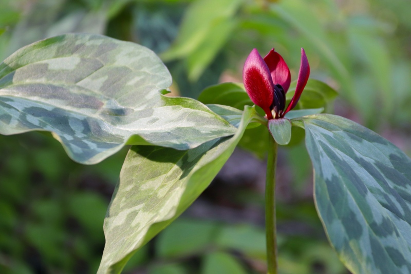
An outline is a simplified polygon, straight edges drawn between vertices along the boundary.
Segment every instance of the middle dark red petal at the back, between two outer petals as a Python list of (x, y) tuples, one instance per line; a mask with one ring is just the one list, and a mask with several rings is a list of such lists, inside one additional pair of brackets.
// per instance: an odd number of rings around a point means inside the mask
[(264, 57), (268, 69), (271, 72), (274, 85), (280, 84), (287, 93), (291, 83), (291, 73), (283, 57), (274, 48)]

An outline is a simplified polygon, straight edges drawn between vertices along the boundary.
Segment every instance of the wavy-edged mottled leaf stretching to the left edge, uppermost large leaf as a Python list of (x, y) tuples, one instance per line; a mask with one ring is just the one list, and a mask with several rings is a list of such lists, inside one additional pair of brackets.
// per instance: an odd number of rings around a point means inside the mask
[(189, 149), (235, 133), (201, 103), (167, 97), (171, 85), (147, 48), (101, 35), (66, 34), (0, 64), (0, 133), (54, 132), (74, 161), (94, 164), (128, 144)]

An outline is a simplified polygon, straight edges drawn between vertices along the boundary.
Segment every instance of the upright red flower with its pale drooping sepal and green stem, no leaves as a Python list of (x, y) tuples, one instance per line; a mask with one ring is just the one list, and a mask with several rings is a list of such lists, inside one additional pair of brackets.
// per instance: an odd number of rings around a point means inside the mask
[[(268, 148), (266, 175), (266, 240), (268, 273), (277, 273), (277, 247), (275, 228), (275, 170), (277, 143), (287, 145), (291, 140), (291, 122), (284, 116), (293, 109), (307, 85), (310, 65), (301, 49), (301, 66), (294, 96), (286, 107), (286, 93), (291, 83), (291, 73), (283, 57), (272, 49), (264, 59), (253, 49), (244, 64), (244, 87), (251, 101), (262, 108), (272, 134)], [(266, 122), (263, 125), (267, 124)], [(271, 258), (271, 259), (269, 259)]]

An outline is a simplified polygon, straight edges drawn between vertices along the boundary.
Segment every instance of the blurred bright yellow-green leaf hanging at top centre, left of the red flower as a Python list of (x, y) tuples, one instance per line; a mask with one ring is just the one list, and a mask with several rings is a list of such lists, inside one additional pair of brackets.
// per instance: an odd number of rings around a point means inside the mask
[(195, 82), (229, 40), (242, 0), (197, 0), (186, 11), (173, 45), (161, 54), (165, 62), (186, 57), (188, 80)]

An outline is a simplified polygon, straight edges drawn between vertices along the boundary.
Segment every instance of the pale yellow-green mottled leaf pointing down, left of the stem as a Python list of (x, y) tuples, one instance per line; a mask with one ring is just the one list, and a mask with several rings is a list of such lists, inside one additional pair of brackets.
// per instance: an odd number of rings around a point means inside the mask
[(133, 146), (104, 222), (98, 273), (119, 273), (128, 259), (174, 221), (210, 184), (233, 152), (255, 109), (246, 107), (234, 136), (189, 150)]

